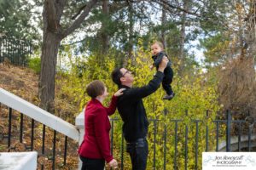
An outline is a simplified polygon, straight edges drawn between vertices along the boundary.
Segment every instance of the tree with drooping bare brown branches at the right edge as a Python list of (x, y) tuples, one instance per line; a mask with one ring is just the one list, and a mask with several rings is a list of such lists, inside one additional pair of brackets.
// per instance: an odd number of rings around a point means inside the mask
[[(225, 109), (238, 111), (240, 116), (247, 116), (247, 111), (255, 112), (255, 0), (246, 3), (236, 1), (234, 15), (230, 18), (230, 51), (232, 57), (224, 63), (221, 71), (219, 91), (220, 102)], [(255, 115), (254, 115), (255, 116)]]

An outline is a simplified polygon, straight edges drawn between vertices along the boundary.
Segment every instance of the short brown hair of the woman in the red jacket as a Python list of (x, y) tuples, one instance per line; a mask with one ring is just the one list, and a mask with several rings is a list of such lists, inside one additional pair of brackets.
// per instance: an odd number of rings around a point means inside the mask
[(102, 95), (104, 91), (105, 84), (99, 80), (92, 81), (86, 86), (86, 93), (92, 99), (95, 99), (97, 96)]

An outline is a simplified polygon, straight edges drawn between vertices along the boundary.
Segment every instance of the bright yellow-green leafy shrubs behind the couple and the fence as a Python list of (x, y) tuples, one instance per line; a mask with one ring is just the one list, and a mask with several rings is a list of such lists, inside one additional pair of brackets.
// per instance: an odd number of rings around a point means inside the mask
[[(138, 49), (135, 65), (128, 62), (127, 69), (133, 71), (135, 77), (135, 87), (146, 85), (152, 77), (154, 71), (150, 71), (149, 65), (152, 60), (148, 52), (143, 49)], [(82, 77), (78, 75), (78, 68), (76, 65), (84, 65)], [(89, 101), (89, 97), (84, 94), (86, 84), (92, 80), (102, 80), (105, 82), (109, 99), (111, 94), (117, 90), (117, 86), (111, 80), (111, 72), (115, 67), (114, 56), (109, 54), (105, 57), (105, 61), (101, 64), (96, 61), (96, 55), (91, 55), (85, 61), (76, 61), (72, 64), (71, 71), (67, 74), (66, 82), (57, 82), (63, 84), (61, 90), (74, 102), (78, 102), (80, 110)], [(172, 64), (174, 73), (177, 72), (179, 65)], [(148, 127), (148, 169), (173, 169), (174, 160), (178, 169), (183, 169), (185, 166), (185, 157), (187, 157), (188, 169), (195, 169), (195, 157), (198, 154), (197, 167), (201, 169), (201, 153), (206, 150), (215, 150), (214, 128), (212, 120), (215, 118), (216, 112), (219, 109), (218, 95), (216, 94), (216, 84), (214, 82), (207, 82), (207, 77), (200, 69), (191, 71), (193, 77), (183, 76), (178, 77), (174, 75), (172, 88), (175, 92), (175, 97), (172, 100), (163, 100), (165, 94), (163, 88), (159, 88), (154, 94), (143, 99), (143, 104), (146, 108), (150, 125)], [(191, 72), (189, 75), (191, 75)], [(216, 82), (217, 83), (217, 82)], [(106, 104), (109, 102), (106, 99)], [(167, 114), (164, 111), (167, 111)], [(207, 111), (209, 115), (207, 116)], [(112, 118), (119, 118), (116, 113)], [(176, 120), (176, 121), (175, 121)], [(196, 121), (198, 127), (196, 129)], [(177, 124), (177, 131), (175, 125)], [(208, 126), (208, 141), (206, 144), (206, 126)], [(122, 150), (121, 133), (122, 122), (113, 121), (113, 156), (117, 160), (121, 160), (124, 156), (124, 169), (131, 169), (131, 161), (129, 156)], [(187, 141), (185, 141), (186, 130), (188, 133)], [(196, 133), (197, 131), (197, 133)], [(176, 139), (175, 139), (176, 136)], [(198, 141), (198, 146), (195, 150), (195, 141)], [(187, 145), (186, 145), (187, 143)], [(177, 144), (177, 152), (175, 155), (175, 144)], [(186, 150), (187, 149), (187, 150)], [(124, 155), (122, 153), (124, 152)], [(165, 155), (166, 153), (166, 155)], [(121, 162), (119, 162), (119, 165)]]

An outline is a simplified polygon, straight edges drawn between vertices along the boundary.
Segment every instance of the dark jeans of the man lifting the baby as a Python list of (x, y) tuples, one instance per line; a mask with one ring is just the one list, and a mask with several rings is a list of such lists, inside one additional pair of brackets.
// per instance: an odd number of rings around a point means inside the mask
[(130, 154), (132, 170), (145, 170), (148, 159), (148, 141), (146, 138), (127, 143), (126, 151)]

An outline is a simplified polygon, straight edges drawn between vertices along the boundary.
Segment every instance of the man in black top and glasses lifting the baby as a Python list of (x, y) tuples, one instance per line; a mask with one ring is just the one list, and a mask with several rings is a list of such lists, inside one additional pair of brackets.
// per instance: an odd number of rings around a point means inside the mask
[(143, 105), (143, 98), (153, 94), (164, 77), (168, 59), (160, 62), (154, 78), (142, 88), (132, 88), (133, 76), (131, 71), (118, 68), (112, 72), (112, 80), (119, 88), (125, 88), (123, 95), (118, 98), (119, 115), (124, 122), (123, 133), (126, 140), (126, 151), (130, 154), (132, 170), (145, 170), (148, 158), (148, 118)]

